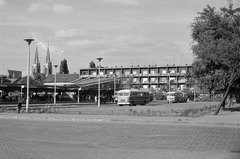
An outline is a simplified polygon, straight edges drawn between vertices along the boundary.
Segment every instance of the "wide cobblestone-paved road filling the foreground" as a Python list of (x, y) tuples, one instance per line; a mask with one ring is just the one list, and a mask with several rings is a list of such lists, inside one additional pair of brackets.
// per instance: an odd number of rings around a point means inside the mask
[(240, 128), (0, 120), (0, 159), (239, 159)]

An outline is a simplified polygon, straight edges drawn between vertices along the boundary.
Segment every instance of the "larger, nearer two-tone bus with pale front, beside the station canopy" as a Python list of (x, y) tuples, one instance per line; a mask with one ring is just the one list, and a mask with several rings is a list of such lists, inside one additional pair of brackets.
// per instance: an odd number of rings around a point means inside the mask
[(118, 91), (118, 105), (146, 105), (150, 102), (149, 91), (145, 90), (120, 90)]

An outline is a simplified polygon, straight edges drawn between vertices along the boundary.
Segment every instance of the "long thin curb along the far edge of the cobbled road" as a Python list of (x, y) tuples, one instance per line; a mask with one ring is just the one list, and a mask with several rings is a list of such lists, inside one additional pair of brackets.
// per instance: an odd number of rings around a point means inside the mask
[(189, 124), (189, 125), (208, 125), (208, 126), (240, 126), (240, 123), (228, 123), (228, 122), (211, 122), (204, 120), (190, 120), (180, 119), (176, 120), (151, 120), (151, 119), (116, 119), (116, 118), (66, 118), (66, 117), (27, 117), (27, 116), (15, 116), (15, 115), (2, 115), (0, 119), (25, 119), (25, 120), (52, 120), (52, 121), (87, 121), (87, 122), (121, 122), (121, 123), (149, 123), (149, 124)]

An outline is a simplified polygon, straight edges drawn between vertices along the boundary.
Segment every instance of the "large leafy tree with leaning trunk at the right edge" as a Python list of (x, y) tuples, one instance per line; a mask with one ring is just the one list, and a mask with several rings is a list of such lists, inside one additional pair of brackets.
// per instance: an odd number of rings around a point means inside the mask
[(240, 77), (240, 8), (233, 9), (230, 0), (228, 8), (208, 5), (198, 15), (191, 24), (193, 74), (212, 92), (224, 94), (217, 115)]

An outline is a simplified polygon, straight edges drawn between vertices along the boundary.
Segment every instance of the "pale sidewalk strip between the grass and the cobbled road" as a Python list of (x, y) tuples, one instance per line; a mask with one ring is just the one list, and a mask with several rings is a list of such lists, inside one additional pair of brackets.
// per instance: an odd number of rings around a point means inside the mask
[(68, 115), (68, 114), (16, 114), (0, 113), (0, 119), (31, 119), (53, 121), (94, 121), (94, 122), (132, 122), (132, 123), (161, 123), (161, 124), (194, 124), (240, 126), (240, 112), (221, 111), (218, 115), (203, 117), (143, 117), (143, 116), (114, 116), (114, 115)]

